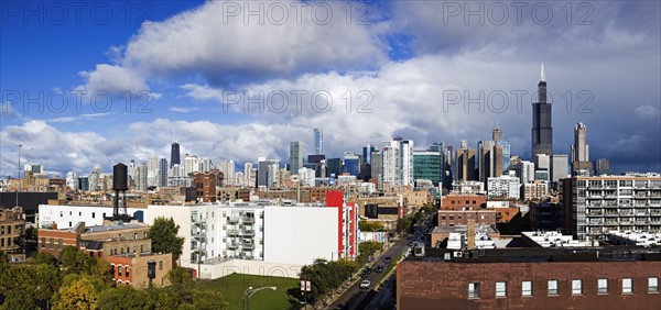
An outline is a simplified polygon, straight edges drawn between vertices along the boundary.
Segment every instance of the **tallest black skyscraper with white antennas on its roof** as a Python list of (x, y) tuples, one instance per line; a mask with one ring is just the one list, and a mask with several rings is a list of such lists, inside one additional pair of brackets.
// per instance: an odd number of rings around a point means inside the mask
[(538, 102), (532, 103), (532, 160), (537, 160), (538, 154), (549, 156), (553, 154), (551, 103), (546, 102), (546, 78), (544, 76), (544, 64), (542, 64), (540, 82), (538, 84)]

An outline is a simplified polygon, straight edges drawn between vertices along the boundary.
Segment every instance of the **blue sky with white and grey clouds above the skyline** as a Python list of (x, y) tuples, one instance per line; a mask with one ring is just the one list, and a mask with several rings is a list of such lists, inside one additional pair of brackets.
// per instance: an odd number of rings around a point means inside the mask
[(76, 3), (2, 2), (2, 175), (19, 143), (86, 174), (167, 157), (175, 129), (184, 153), (286, 163), (313, 128), (342, 156), (393, 135), (475, 146), (500, 124), (528, 158), (542, 60), (555, 153), (584, 122), (590, 159), (661, 170), (658, 1)]

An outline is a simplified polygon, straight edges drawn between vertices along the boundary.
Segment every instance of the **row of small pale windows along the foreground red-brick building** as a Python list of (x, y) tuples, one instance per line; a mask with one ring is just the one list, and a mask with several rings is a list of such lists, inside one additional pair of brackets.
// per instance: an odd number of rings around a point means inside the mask
[[(597, 279), (597, 294), (606, 295), (609, 292), (608, 290), (608, 279), (600, 278)], [(508, 283), (507, 281), (496, 281), (496, 297), (507, 297), (508, 296)], [(633, 279), (632, 278), (622, 278), (622, 294), (633, 294)], [(582, 279), (572, 279), (572, 295), (579, 296), (583, 295), (583, 280)], [(648, 278), (648, 292), (649, 294), (658, 294), (659, 292), (659, 277), (649, 277)], [(468, 298), (476, 299), (479, 298), (480, 294), (480, 284), (479, 283), (469, 283), (468, 284)], [(559, 289), (559, 280), (551, 279), (546, 283), (546, 294), (548, 296), (557, 296), (560, 295)], [(532, 281), (521, 281), (521, 296), (530, 297), (533, 295), (532, 290)]]

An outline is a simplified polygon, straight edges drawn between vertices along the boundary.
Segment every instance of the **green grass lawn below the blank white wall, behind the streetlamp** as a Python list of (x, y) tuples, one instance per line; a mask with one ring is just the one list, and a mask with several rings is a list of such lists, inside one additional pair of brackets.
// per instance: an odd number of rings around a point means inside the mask
[(263, 289), (252, 295), (250, 297), (250, 309), (292, 309), (292, 303), (296, 305), (297, 302), (294, 297), (288, 295), (288, 290), (297, 290), (300, 287), (299, 279), (231, 274), (202, 283), (204, 289), (223, 291), (225, 300), (229, 302), (229, 309), (239, 310), (241, 309), (243, 292), (249, 286), (252, 288), (278, 287), (275, 290)]

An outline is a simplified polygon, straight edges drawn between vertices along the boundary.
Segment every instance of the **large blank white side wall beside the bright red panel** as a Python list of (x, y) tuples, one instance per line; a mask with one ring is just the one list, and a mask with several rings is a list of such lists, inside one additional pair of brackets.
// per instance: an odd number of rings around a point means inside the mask
[(266, 207), (264, 262), (310, 265), (337, 259), (338, 208)]

